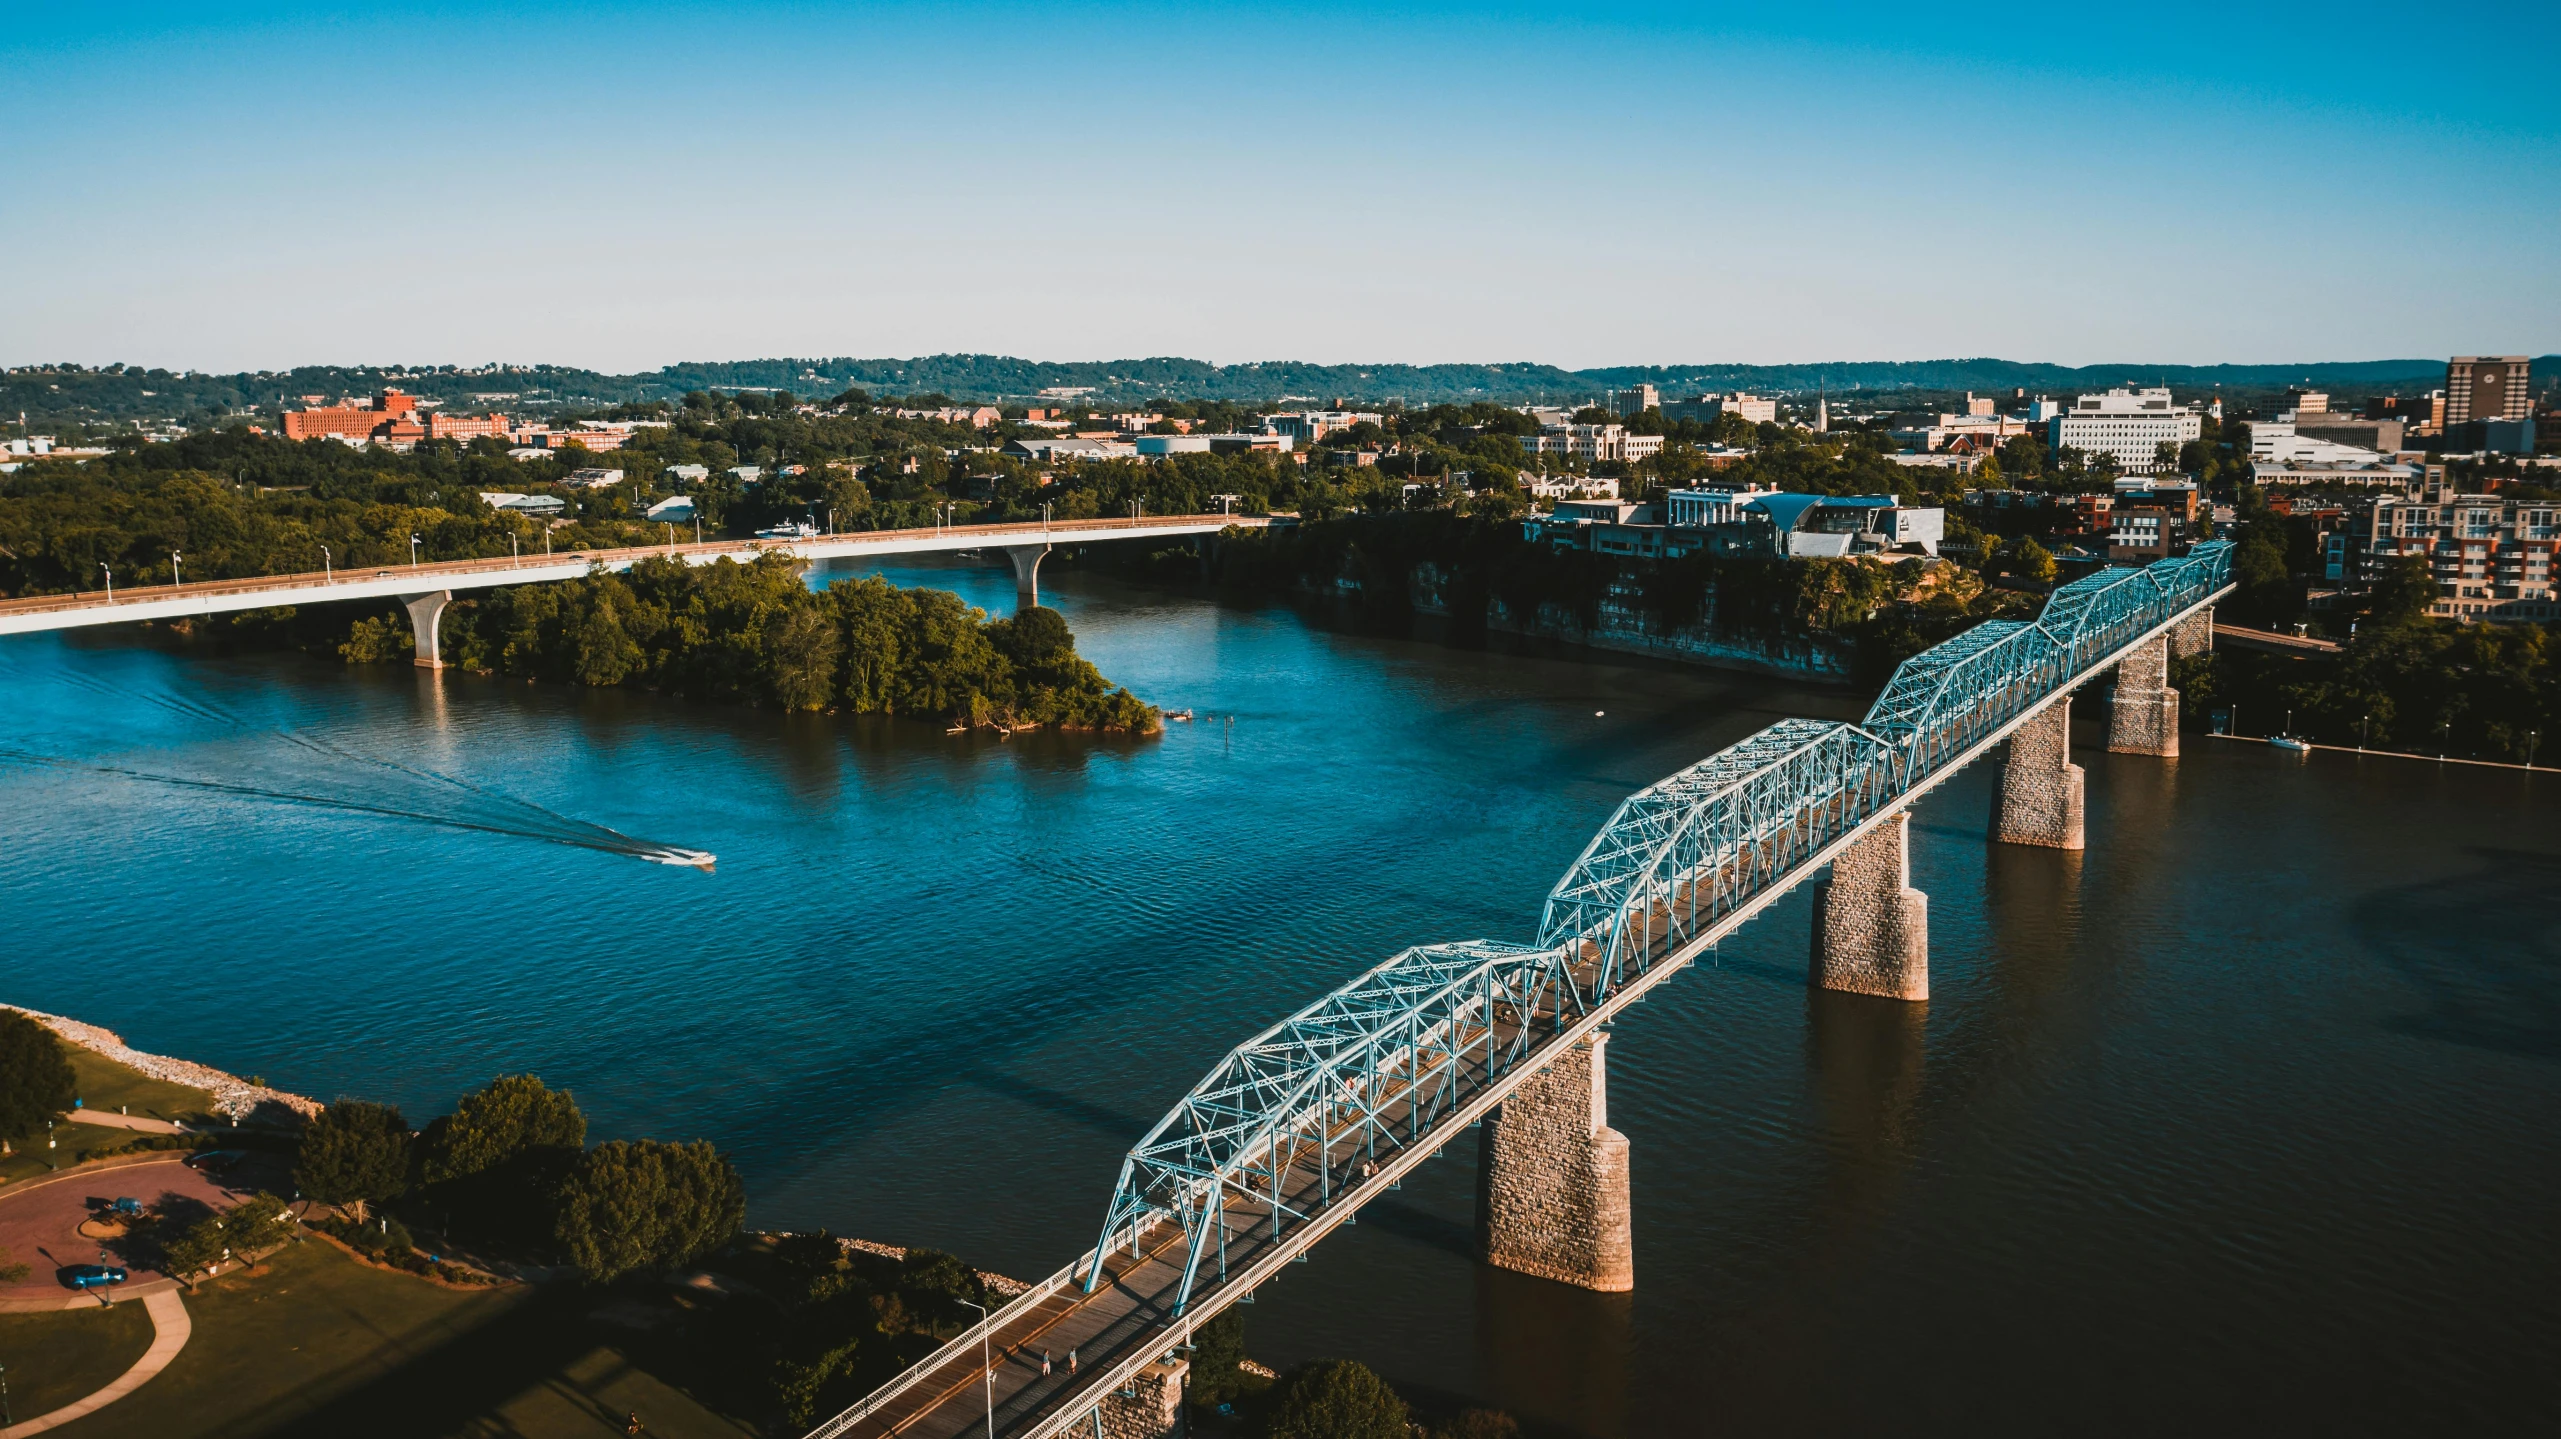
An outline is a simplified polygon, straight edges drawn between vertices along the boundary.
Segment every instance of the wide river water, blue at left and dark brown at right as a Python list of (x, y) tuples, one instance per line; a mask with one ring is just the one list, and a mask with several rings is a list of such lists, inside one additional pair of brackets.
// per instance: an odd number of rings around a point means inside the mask
[[(533, 1070), (594, 1137), (717, 1139), (758, 1226), (1037, 1278), (1229, 1045), (1403, 945), (1526, 937), (1626, 791), (1862, 707), (1045, 581), (1199, 720), (950, 737), (0, 640), (0, 999), (412, 1121)], [(1619, 1024), (1636, 1293), (1475, 1265), (1455, 1142), (1250, 1347), (1601, 1436), (2548, 1431), (2561, 789), (2082, 730), (2085, 855), (1987, 845), (1982, 773), (1918, 809), (1926, 1006), (1811, 993), (1800, 894)]]

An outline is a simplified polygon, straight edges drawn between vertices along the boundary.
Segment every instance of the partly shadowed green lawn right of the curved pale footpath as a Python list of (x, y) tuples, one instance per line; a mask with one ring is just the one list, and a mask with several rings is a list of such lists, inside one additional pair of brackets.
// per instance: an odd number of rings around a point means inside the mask
[(615, 1331), (586, 1319), (597, 1303), (522, 1285), (448, 1290), (305, 1239), (264, 1273), (190, 1293), (187, 1349), (67, 1434), (604, 1439), (630, 1411), (663, 1439), (753, 1434), (633, 1365)]

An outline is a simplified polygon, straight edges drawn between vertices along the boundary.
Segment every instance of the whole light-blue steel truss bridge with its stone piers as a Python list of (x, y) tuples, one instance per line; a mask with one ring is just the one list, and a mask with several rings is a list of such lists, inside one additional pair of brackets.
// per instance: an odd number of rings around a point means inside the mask
[(1173, 1434), (1191, 1329), (1480, 1121), (1485, 1260), (1634, 1288), (1603, 1027), (1826, 868), (1811, 983), (1928, 999), (1913, 801), (2000, 750), (1992, 840), (2082, 848), (2072, 691), (2113, 668), (2108, 748), (2174, 755), (2169, 658), (2228, 589), (2226, 543), (2100, 571), (1913, 655), (1857, 725), (1782, 720), (1636, 791), (1534, 942), (1406, 950), (1237, 1045), (1129, 1150), (1091, 1252), (809, 1439)]

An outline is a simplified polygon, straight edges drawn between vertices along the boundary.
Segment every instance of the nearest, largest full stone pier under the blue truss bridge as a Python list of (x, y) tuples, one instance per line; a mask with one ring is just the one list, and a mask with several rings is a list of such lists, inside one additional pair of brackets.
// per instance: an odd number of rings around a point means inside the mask
[(1485, 1262), (1603, 1293), (1636, 1288), (1626, 1134), (1608, 1127), (1608, 1034), (1511, 1091), (1478, 1137)]

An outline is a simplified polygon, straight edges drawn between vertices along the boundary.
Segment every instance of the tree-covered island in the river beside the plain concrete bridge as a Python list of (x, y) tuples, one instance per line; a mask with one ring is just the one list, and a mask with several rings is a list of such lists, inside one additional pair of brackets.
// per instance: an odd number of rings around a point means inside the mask
[[(407, 658), (407, 617), (359, 620), (341, 653)], [(481, 591), (446, 609), (443, 653), (474, 671), (773, 709), (1160, 727), (1155, 707), (1076, 653), (1055, 609), (989, 620), (958, 594), (884, 579), (812, 591), (784, 556), (709, 566), (650, 558), (630, 574)]]

